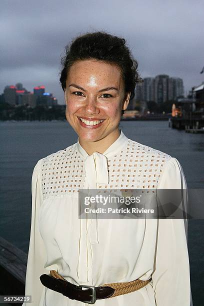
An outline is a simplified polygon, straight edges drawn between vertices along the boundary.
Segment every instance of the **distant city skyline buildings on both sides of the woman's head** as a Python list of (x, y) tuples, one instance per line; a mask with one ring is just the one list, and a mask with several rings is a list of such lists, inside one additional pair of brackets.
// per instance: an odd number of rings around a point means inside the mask
[[(160, 98), (158, 97), (158, 94)], [(36, 98), (33, 98), (38, 95), (45, 96), (43, 99), (38, 100), (37, 102)], [(23, 96), (23, 98), (21, 98), (21, 96)], [(40, 103), (44, 104), (45, 99), (47, 99), (49, 96), (51, 97), (51, 101), (54, 102), (54, 104), (57, 104), (56, 97), (53, 96), (53, 93), (45, 92), (44, 85), (35, 85), (33, 87), (33, 91), (30, 91), (24, 88), (22, 83), (18, 82), (15, 85), (6, 85), (4, 87), (3, 92), (0, 93), (0, 101), (17, 105), (27, 103), (30, 106), (35, 106)], [(177, 97), (184, 97), (183, 80), (179, 77), (172, 77), (167, 74), (158, 74), (154, 77), (144, 77), (142, 83), (136, 83), (135, 85), (134, 100), (146, 102), (154, 101), (157, 104), (160, 104), (169, 100), (176, 101)], [(65, 103), (58, 104), (63, 105)]]

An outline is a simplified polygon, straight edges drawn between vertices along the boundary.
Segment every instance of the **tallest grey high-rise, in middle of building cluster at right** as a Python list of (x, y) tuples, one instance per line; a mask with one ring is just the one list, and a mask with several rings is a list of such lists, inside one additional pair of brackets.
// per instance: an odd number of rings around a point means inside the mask
[(162, 104), (168, 100), (168, 79), (167, 74), (159, 74), (155, 77), (154, 97), (155, 102)]

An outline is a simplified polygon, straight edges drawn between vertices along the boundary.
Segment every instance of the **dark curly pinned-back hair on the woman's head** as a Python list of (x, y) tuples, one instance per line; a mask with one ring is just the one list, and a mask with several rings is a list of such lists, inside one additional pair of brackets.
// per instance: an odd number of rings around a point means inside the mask
[(61, 58), (59, 78), (63, 91), (71, 65), (83, 59), (97, 59), (118, 66), (124, 81), (124, 90), (130, 92), (130, 99), (134, 97), (135, 84), (143, 81), (137, 72), (137, 61), (125, 45), (125, 39), (97, 31), (78, 36), (71, 44), (66, 45), (65, 55)]

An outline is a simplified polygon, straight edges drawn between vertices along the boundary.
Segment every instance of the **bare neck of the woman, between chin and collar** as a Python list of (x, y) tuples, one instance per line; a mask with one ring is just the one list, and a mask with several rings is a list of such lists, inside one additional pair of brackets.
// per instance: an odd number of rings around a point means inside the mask
[(82, 148), (91, 155), (93, 152), (98, 152), (103, 154), (106, 149), (113, 143), (120, 135), (119, 129), (114, 131), (113, 133), (107, 135), (106, 137), (96, 140), (96, 141), (86, 141), (83, 139), (78, 139)]

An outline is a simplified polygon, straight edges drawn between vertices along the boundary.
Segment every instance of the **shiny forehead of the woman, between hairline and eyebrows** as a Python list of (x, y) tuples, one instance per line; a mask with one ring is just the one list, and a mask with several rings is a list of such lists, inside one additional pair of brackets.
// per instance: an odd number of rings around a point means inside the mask
[(116, 65), (101, 60), (87, 59), (73, 63), (69, 69), (68, 83), (95, 84), (100, 85), (121, 85), (123, 83), (121, 70)]

